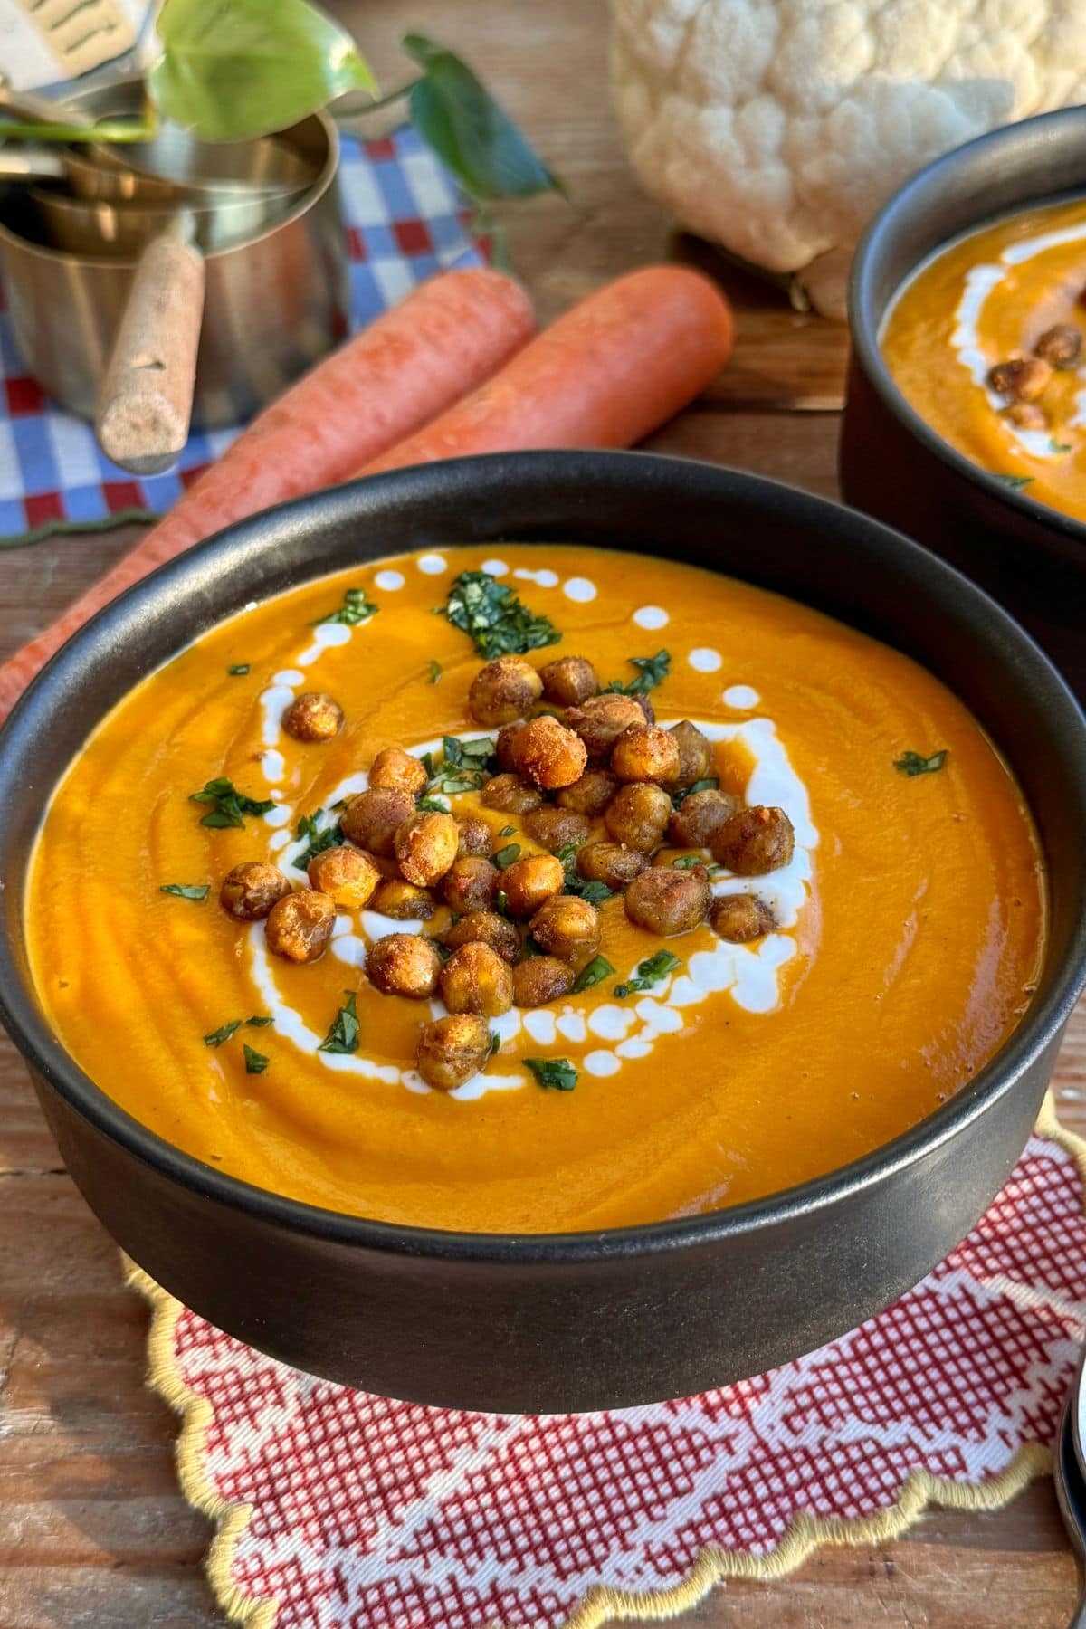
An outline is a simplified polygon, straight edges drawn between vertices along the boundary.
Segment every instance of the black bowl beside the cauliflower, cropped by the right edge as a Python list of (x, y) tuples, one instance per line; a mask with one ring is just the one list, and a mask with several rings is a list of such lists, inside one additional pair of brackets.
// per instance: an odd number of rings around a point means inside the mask
[(879, 350), (902, 282), (951, 238), (998, 215), (1086, 192), (1086, 108), (982, 135), (909, 181), (863, 236), (852, 270), (852, 358), (840, 484), (996, 596), (1086, 696), (1086, 525), (1013, 490), (909, 406)]

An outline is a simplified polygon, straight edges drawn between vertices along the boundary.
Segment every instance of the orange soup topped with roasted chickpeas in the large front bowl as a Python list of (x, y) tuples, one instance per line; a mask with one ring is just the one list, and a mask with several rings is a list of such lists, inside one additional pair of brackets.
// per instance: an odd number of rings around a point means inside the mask
[[(620, 689), (480, 725), (510, 696), (446, 614), (464, 585), (484, 617), (511, 591), (500, 642), (560, 635), (531, 670)], [(402, 792), (371, 774), (412, 780), (388, 841)], [(480, 888), (500, 955), (466, 963)], [(251, 606), (143, 681), (52, 800), (28, 917), (59, 1036), (166, 1140), (337, 1210), (537, 1232), (767, 1194), (928, 1114), (1029, 1003), (1044, 875), (1005, 764), (909, 658), (692, 567), (501, 544)], [(466, 1074), (449, 1025), (479, 1023)]]

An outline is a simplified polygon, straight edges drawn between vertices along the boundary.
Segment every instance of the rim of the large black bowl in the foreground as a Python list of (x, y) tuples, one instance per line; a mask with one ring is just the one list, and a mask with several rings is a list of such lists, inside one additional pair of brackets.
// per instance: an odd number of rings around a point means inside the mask
[[(65, 684), (75, 683), (80, 661), (93, 653), (103, 640), (107, 643), (122, 634), (125, 626), (135, 626), (143, 606), (158, 595), (163, 591), (184, 593), (189, 580), (199, 582), (200, 570), (207, 562), (230, 560), (238, 549), (259, 555), (275, 547), (277, 536), (298, 531), (300, 526), (304, 528), (309, 523), (319, 526), (332, 523), (335, 518), (357, 523), (360, 495), (381, 497), (389, 494), (394, 498), (401, 489), (404, 494), (414, 489), (420, 498), (440, 500), (448, 497), (449, 490), (456, 490), (458, 484), (467, 490), (480, 479), (497, 482), (501, 487), (518, 477), (531, 477), (545, 489), (557, 479), (593, 484), (614, 472), (622, 472), (624, 484), (635, 484), (638, 479), (650, 484), (668, 479), (684, 484), (710, 482), (715, 487), (713, 492), (697, 490), (685, 495), (700, 502), (746, 497), (747, 502), (760, 502), (767, 515), (785, 512), (799, 521), (806, 521), (809, 516), (809, 523), (819, 525), (824, 533), (852, 529), (860, 536), (881, 541), (900, 557), (902, 564), (910, 564), (913, 570), (922, 570), (936, 582), (941, 580), (948, 598), (964, 595), (972, 601), (975, 611), (996, 622), (1003, 656), (1008, 665), (1014, 666), (1018, 686), (1027, 687), (1036, 697), (1036, 705), (1045, 707), (1057, 717), (1062, 733), (1070, 731), (1073, 738), (1078, 736), (1083, 748), (1081, 787), (1086, 805), (1086, 717), (1044, 652), (1001, 606), (962, 573), (881, 521), (785, 482), (702, 459), (619, 451), (495, 453), (436, 464), (417, 464), (295, 498), (226, 526), (140, 578), (60, 647), (18, 700), (8, 722), (0, 727), (0, 782), (11, 774), (13, 767), (18, 772), (20, 757), (33, 749), (31, 715), (39, 709), (52, 710), (55, 707), (50, 697), (54, 692), (63, 696)], [(278, 531), (275, 523), (278, 523)], [(497, 539), (492, 536), (488, 541)], [(611, 544), (602, 546), (611, 547)], [(226, 575), (225, 565), (223, 575)], [(298, 577), (298, 583), (308, 580), (311, 578), (304, 573)], [(231, 614), (231, 611), (223, 611), (210, 626)], [(839, 617), (839, 621), (843, 619)], [(163, 661), (166, 660), (169, 656), (163, 658)], [(101, 718), (94, 718), (91, 728), (99, 722)], [(26, 743), (20, 743), (20, 731), (26, 735)], [(26, 775), (13, 780), (16, 787), (31, 784), (33, 779)], [(835, 1207), (856, 1192), (873, 1189), (904, 1168), (918, 1165), (926, 1155), (961, 1135), (988, 1108), (1014, 1090), (1023, 1075), (1058, 1039), (1083, 986), (1086, 986), (1086, 914), (1079, 914), (1058, 963), (1050, 973), (1045, 973), (1045, 987), (1037, 992), (1026, 1016), (995, 1057), (933, 1114), (925, 1116), (891, 1142), (822, 1176), (760, 1199), (694, 1217), (585, 1232), (466, 1233), (379, 1222), (290, 1199), (230, 1176), (166, 1142), (94, 1085), (52, 1033), (33, 994), (29, 969), (28, 977), (23, 977), (20, 955), (13, 943), (13, 915), (21, 920), (21, 898), (18, 909), (7, 914), (0, 932), (0, 1021), (31, 1069), (81, 1119), (111, 1142), (119, 1144), (122, 1150), (197, 1196), (291, 1233), (388, 1256), (487, 1266), (505, 1264), (515, 1269), (588, 1266), (591, 1262), (638, 1259), (689, 1246), (718, 1245), (799, 1217), (811, 1217)]]

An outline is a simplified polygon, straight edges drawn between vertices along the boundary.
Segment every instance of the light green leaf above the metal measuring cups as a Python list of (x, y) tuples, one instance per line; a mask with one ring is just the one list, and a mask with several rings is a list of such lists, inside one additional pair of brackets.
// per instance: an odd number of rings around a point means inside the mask
[(208, 142), (285, 130), (376, 80), (350, 34), (306, 0), (166, 0), (147, 77), (166, 119)]

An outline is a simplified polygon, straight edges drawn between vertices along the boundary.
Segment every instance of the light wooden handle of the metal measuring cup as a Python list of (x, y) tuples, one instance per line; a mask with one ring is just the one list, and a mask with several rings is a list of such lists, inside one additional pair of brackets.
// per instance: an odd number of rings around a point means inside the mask
[(176, 223), (140, 256), (98, 396), (98, 445), (132, 474), (160, 474), (189, 440), (202, 318), (204, 257)]

